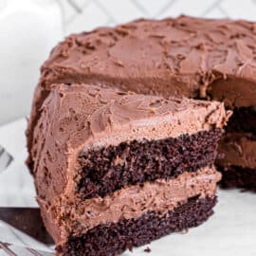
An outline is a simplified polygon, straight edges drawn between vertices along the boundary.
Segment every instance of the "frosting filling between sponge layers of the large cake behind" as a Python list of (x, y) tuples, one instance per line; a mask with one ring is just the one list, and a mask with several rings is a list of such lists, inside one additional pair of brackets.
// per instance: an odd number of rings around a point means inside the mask
[(256, 168), (256, 137), (252, 134), (227, 134), (220, 141), (219, 152), (225, 155), (217, 161), (221, 166)]

